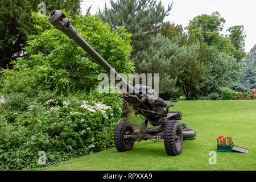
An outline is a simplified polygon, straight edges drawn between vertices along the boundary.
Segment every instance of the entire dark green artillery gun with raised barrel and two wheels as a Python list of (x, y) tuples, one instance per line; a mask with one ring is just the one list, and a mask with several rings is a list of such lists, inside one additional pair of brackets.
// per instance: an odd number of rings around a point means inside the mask
[[(49, 14), (49, 22), (58, 30), (67, 34), (70, 39), (75, 40), (93, 59), (101, 65), (109, 74), (113, 71), (115, 77), (121, 80), (129, 90), (123, 93), (122, 97), (130, 106), (133, 106), (135, 114), (141, 114), (144, 119), (139, 131), (134, 131), (130, 122), (118, 123), (114, 133), (114, 143), (118, 151), (128, 151), (133, 148), (134, 142), (147, 139), (164, 139), (164, 147), (168, 155), (179, 155), (183, 148), (184, 139), (195, 139), (196, 133), (181, 120), (181, 111), (169, 111), (170, 104), (157, 97), (155, 91), (149, 86), (131, 86), (123, 79), (77, 32), (76, 28), (69, 22), (60, 10), (52, 11)], [(166, 109), (164, 109), (166, 107)], [(153, 127), (147, 127), (148, 122)]]

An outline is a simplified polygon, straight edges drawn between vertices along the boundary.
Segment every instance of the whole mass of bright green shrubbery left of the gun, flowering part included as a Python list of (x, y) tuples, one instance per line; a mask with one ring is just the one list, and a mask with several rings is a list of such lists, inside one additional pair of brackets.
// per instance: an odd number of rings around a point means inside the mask
[[(65, 13), (71, 17), (71, 13)], [(0, 169), (42, 167), (113, 147), (113, 132), (122, 116), (117, 94), (98, 93), (99, 65), (47, 16), (32, 14), (38, 34), (29, 36), (28, 57), (1, 72)], [(98, 16), (76, 16), (80, 35), (118, 71), (130, 73), (130, 34)], [(82, 90), (82, 91), (80, 91)], [(41, 165), (41, 166), (40, 166)]]

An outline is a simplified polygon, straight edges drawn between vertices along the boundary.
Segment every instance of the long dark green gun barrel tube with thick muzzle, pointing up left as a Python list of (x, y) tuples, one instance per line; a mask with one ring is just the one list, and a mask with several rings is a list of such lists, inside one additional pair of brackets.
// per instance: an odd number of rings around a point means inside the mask
[(72, 26), (69, 22), (67, 16), (65, 16), (60, 10), (54, 10), (49, 14), (49, 22), (57, 28), (68, 35), (69, 39), (75, 40), (79, 46), (81, 46), (93, 59), (101, 65), (102, 68), (106, 70), (106, 72), (111, 73), (114, 72), (117, 80), (121, 80), (124, 85), (126, 85), (127, 92), (134, 92), (134, 88), (126, 82), (121, 75), (119, 75), (78, 33), (76, 28)]

